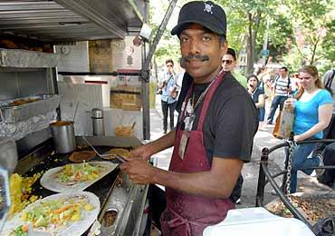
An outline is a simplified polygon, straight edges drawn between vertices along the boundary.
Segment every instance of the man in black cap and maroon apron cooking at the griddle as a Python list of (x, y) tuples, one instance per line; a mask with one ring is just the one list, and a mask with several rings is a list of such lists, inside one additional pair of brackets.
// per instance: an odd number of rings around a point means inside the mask
[[(163, 235), (202, 235), (235, 207), (229, 196), (244, 162), (250, 161), (257, 114), (244, 87), (222, 69), (226, 20), (219, 5), (187, 3), (171, 34), (179, 38), (187, 71), (177, 129), (132, 151), (120, 168), (132, 182), (166, 186)], [(172, 145), (168, 171), (143, 160)]]

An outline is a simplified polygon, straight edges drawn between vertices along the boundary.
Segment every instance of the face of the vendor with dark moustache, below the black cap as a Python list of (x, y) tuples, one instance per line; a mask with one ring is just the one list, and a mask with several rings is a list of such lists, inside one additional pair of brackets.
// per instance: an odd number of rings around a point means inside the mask
[(202, 25), (192, 24), (179, 35), (180, 50), (185, 68), (196, 83), (206, 83), (217, 74), (226, 44), (220, 44), (217, 34)]

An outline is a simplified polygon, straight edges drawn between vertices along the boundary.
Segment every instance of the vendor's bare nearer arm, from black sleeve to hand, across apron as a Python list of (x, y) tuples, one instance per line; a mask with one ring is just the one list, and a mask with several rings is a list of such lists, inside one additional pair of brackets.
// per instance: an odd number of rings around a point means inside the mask
[(207, 172), (180, 173), (158, 169), (143, 160), (133, 160), (120, 166), (134, 183), (158, 183), (169, 188), (213, 198), (228, 198), (235, 187), (243, 161), (214, 158)]

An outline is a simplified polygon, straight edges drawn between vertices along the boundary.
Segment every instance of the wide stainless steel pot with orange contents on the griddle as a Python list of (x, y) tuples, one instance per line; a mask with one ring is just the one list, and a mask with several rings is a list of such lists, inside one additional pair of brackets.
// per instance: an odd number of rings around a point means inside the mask
[(72, 122), (55, 122), (50, 124), (53, 143), (57, 153), (68, 153), (76, 149)]

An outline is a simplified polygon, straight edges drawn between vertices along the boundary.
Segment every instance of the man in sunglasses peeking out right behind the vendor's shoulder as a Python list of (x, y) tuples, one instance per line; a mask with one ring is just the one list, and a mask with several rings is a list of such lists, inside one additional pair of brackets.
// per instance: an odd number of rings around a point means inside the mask
[(236, 68), (236, 54), (233, 48), (228, 48), (227, 53), (222, 58), (222, 67), (224, 68), (225, 72), (230, 72), (233, 74), (235, 79), (246, 88), (246, 78), (244, 75), (235, 72)]

